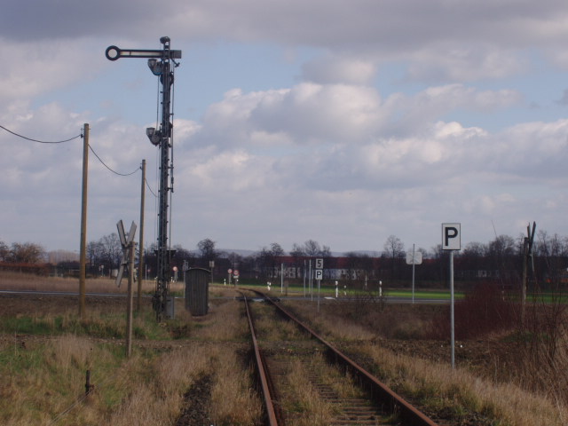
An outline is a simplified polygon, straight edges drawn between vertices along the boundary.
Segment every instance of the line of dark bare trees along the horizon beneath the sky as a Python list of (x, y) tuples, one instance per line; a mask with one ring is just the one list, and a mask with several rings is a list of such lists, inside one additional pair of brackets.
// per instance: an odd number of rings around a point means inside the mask
[[(520, 281), (522, 271), (524, 239), (523, 235), (519, 235), (517, 239), (499, 235), (488, 243), (469, 242), (454, 254), (454, 278), (458, 281), (499, 280), (505, 285), (515, 285)], [(294, 277), (303, 278), (306, 259), (323, 257), (328, 259), (327, 265), (337, 264), (349, 270), (346, 274), (349, 277), (364, 276), (369, 280), (387, 280), (387, 285), (410, 280), (412, 274), (412, 268), (406, 264), (405, 244), (396, 235), (390, 235), (386, 239), (381, 253), (351, 251), (337, 255), (332, 253), (329, 246), (313, 240), (294, 243), (288, 253), (278, 242), (272, 242), (250, 256), (227, 253), (216, 246), (217, 243), (210, 239), (199, 241), (193, 250), (175, 246), (171, 265), (182, 271), (185, 265), (209, 268), (209, 262), (213, 261), (213, 272), (217, 277), (225, 276), (229, 268), (238, 268), (242, 279), (266, 280), (273, 278), (282, 263), (286, 263), (288, 269), (295, 268)], [(148, 278), (154, 278), (154, 250), (155, 244), (152, 244), (144, 252), (145, 263), (149, 269)], [(422, 252), (424, 259), (423, 263), (415, 268), (416, 280), (428, 282), (429, 285), (434, 282), (445, 285), (448, 253), (441, 249), (441, 245), (430, 250), (415, 250)], [(139, 255), (137, 253), (137, 258)], [(88, 243), (87, 271), (91, 275), (108, 274), (118, 268), (121, 257), (122, 246), (118, 235), (105, 235), (98, 241)], [(64, 260), (57, 262), (57, 265), (69, 270), (78, 269), (76, 254), (75, 257), (50, 256), (41, 245), (35, 243), (13, 243), (8, 246), (4, 241), (0, 241), (2, 264), (44, 264), (46, 259), (55, 264), (54, 261), (58, 258)], [(342, 260), (339, 262), (337, 259)], [(567, 267), (568, 237), (540, 230), (536, 234), (529, 265), (532, 280), (544, 287), (568, 284)]]

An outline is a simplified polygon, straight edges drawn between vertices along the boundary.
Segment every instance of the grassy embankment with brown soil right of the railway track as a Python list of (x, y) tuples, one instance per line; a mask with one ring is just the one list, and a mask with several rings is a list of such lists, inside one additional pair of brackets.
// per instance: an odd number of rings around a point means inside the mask
[[(359, 354), (358, 358), (364, 360), (366, 367), (383, 383), (421, 406), (433, 418), (445, 419), (448, 424), (480, 426), (561, 426), (568, 422), (565, 405), (568, 388), (565, 373), (562, 373), (562, 368), (568, 366), (565, 350), (557, 354), (552, 366), (556, 368), (556, 379), (551, 369), (542, 368), (540, 374), (537, 373), (546, 357), (543, 348), (537, 348), (534, 341), (528, 346), (514, 342), (509, 354), (513, 358), (509, 358), (507, 364), (500, 365), (500, 359), (495, 357), (495, 365), (483, 372), (473, 368), (476, 366), (461, 367), (459, 362), (453, 369), (448, 362), (429, 360), (430, 353), (421, 352), (417, 341), (424, 339), (424, 332), (432, 323), (428, 318), (408, 313), (417, 311), (413, 306), (386, 305), (382, 312), (377, 312), (376, 306), (360, 303), (324, 304), (318, 313), (312, 304), (286, 304), (329, 340), (342, 344), (345, 351)], [(337, 321), (338, 315), (342, 316), (341, 321)], [(410, 349), (406, 353), (414, 352), (415, 356), (385, 349), (383, 339), (393, 335), (399, 336), (399, 347), (407, 346)], [(517, 340), (515, 328), (501, 335), (503, 341)], [(408, 338), (408, 342), (401, 342), (401, 336)], [(558, 338), (565, 342), (565, 337)], [(440, 343), (447, 347), (446, 341)], [(537, 355), (540, 366), (534, 367), (532, 356), (539, 353), (542, 355)], [(487, 353), (485, 357), (493, 358), (493, 355)], [(512, 366), (517, 367), (502, 371)], [(548, 379), (541, 380), (547, 376), (547, 371)]]

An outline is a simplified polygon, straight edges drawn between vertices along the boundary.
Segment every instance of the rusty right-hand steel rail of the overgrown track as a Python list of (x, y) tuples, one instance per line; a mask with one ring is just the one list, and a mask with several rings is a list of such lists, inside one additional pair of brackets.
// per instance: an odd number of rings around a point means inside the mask
[(426, 414), (423, 414), (420, 410), (414, 407), (412, 404), (407, 402), (394, 390), (391, 390), (389, 386), (379, 381), (374, 375), (369, 373), (365, 368), (360, 367), (355, 361), (339, 351), (331, 343), (328, 343), (323, 337), (318, 335), (311, 327), (308, 327), (300, 319), (297, 319), (294, 314), (288, 312), (281, 306), (278, 302), (273, 300), (271, 297), (264, 295), (264, 293), (251, 289), (250, 291), (255, 292), (257, 295), (264, 297), (272, 305), (274, 305), (285, 317), (293, 320), (296, 324), (304, 328), (310, 335), (319, 342), (323, 343), (327, 351), (329, 351), (335, 361), (344, 367), (348, 368), (351, 373), (357, 375), (362, 383), (365, 383), (367, 389), (371, 392), (371, 395), (376, 397), (379, 406), (386, 406), (390, 413), (398, 413), (400, 419), (404, 424), (414, 425), (414, 426), (438, 426), (438, 423), (432, 421)]

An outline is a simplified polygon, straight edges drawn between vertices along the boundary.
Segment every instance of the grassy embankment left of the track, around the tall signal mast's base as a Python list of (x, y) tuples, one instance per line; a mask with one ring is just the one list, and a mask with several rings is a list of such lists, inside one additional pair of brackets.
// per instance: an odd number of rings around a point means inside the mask
[[(2, 287), (8, 280), (13, 286), (13, 276), (4, 278)], [(32, 282), (17, 277), (20, 288), (66, 291), (76, 285), (27, 278)], [(124, 299), (105, 298), (96, 308), (88, 299), (87, 318), (78, 319), (75, 301), (63, 296), (4, 297), (11, 313), (0, 312), (2, 424), (171, 425), (188, 403), (185, 392), (202, 377), (209, 381), (202, 414), (208, 422), (245, 425), (260, 418), (241, 354), (248, 346), (246, 323), (233, 300), (221, 299), (200, 320), (180, 303), (177, 318), (162, 324), (144, 304), (134, 319), (137, 340), (128, 359)], [(85, 397), (87, 370), (94, 389)]]

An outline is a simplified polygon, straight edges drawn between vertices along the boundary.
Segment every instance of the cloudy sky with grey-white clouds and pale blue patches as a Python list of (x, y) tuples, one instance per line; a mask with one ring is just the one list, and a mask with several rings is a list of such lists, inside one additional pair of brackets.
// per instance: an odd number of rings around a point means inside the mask
[[(183, 51), (171, 243), (332, 251), (568, 235), (565, 0), (4, 0), (0, 125), (91, 126), (157, 192), (158, 81), (109, 45)], [(0, 241), (78, 250), (83, 141), (0, 129)], [(139, 221), (140, 171), (89, 163), (88, 241)], [(146, 241), (156, 238), (146, 192)], [(137, 236), (138, 238), (138, 236)]]

